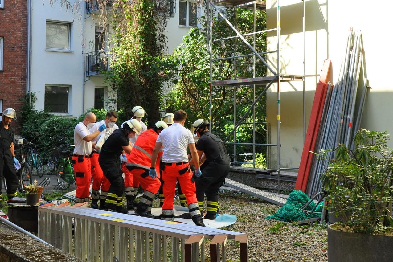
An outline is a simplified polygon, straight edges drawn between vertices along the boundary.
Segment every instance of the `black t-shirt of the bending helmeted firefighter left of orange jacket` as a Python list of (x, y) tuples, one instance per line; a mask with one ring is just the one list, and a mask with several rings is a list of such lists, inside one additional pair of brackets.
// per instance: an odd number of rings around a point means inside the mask
[(121, 152), (123, 152), (122, 147), (128, 145), (129, 139), (124, 134), (123, 128), (116, 129), (102, 146), (99, 160), (115, 163), (121, 155)]

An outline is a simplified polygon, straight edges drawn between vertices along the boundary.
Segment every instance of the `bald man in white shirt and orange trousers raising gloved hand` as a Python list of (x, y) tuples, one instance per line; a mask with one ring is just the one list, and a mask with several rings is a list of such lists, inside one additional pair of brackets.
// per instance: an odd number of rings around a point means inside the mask
[(92, 169), (90, 156), (92, 154), (92, 140), (97, 137), (103, 130), (105, 124), (99, 126), (97, 131), (90, 134), (89, 128), (94, 126), (97, 117), (94, 113), (89, 112), (84, 116), (82, 122), (79, 122), (74, 129), (75, 149), (72, 155), (72, 164), (75, 172), (76, 194), (75, 202), (89, 202), (90, 180)]

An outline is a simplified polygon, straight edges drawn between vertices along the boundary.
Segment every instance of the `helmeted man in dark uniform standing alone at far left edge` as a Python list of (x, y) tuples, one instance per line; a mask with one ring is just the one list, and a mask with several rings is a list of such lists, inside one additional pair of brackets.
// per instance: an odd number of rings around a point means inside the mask
[(4, 178), (7, 183), (8, 199), (17, 195), (19, 184), (14, 164), (20, 164), (18, 159), (15, 158), (14, 130), (10, 126), (12, 119), (15, 117), (15, 110), (7, 108), (2, 113), (2, 121), (0, 123), (0, 204), (3, 201), (2, 187)]

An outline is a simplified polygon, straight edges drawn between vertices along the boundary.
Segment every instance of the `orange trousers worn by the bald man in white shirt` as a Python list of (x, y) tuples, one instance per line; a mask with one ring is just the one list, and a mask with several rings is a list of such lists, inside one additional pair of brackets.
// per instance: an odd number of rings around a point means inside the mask
[(90, 181), (92, 178), (90, 158), (79, 157), (79, 159), (82, 162), (78, 162), (77, 156), (72, 157), (76, 182), (75, 202), (77, 203), (89, 201)]

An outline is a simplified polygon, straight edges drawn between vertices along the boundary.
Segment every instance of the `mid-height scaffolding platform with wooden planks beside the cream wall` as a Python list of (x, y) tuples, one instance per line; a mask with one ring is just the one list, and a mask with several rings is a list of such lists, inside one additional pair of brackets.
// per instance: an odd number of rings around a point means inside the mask
[[(280, 82), (304, 81), (304, 77), (301, 75), (279, 75), (278, 78)], [(254, 84), (264, 86), (274, 79), (276, 79), (275, 76), (217, 80), (213, 81), (213, 86), (252, 86)]]

